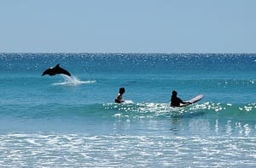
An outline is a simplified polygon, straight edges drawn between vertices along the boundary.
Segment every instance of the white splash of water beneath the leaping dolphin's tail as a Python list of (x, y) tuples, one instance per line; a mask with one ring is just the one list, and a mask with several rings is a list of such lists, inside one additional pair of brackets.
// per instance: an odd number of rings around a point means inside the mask
[(80, 81), (76, 76), (64, 76), (61, 75), (64, 81), (53, 83), (54, 86), (77, 86), (82, 84), (95, 83), (96, 81)]

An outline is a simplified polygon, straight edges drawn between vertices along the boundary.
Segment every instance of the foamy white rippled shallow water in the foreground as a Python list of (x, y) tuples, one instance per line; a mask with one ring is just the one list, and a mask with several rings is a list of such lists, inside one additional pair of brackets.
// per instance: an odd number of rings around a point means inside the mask
[(255, 137), (0, 135), (0, 166), (252, 166)]

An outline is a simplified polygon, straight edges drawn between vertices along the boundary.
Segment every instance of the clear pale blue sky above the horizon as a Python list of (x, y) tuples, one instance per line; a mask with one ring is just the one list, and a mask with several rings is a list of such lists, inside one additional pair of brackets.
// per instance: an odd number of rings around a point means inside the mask
[(0, 0), (0, 53), (256, 53), (255, 0)]

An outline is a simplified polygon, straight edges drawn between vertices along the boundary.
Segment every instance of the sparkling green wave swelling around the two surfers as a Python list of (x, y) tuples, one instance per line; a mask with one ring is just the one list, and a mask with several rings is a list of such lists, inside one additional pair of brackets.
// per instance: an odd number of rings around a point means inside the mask
[(186, 107), (172, 108), (169, 103), (134, 103), (134, 104), (103, 104), (105, 109), (117, 109), (114, 116), (152, 118), (152, 117), (192, 117), (197, 115), (246, 115), (242, 111), (251, 113), (256, 109), (256, 104), (221, 104), (205, 102), (191, 104)]

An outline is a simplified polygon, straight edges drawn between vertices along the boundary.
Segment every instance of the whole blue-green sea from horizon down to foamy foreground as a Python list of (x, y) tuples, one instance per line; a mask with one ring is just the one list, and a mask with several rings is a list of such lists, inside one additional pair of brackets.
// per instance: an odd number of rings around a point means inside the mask
[[(72, 76), (41, 76), (56, 64)], [(0, 72), (0, 167), (256, 166), (256, 54), (0, 53)]]

